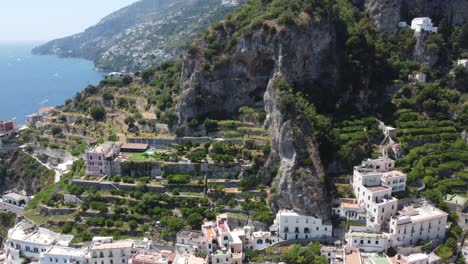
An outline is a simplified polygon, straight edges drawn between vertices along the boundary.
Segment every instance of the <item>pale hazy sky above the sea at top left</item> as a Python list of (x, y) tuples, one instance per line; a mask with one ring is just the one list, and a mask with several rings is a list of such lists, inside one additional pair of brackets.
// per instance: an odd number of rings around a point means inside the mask
[(52, 40), (83, 31), (137, 0), (0, 0), (0, 40)]

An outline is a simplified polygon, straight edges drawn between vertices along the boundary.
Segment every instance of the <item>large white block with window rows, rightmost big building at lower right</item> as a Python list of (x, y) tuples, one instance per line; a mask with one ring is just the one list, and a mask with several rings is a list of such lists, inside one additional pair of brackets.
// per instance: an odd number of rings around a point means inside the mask
[(393, 246), (409, 246), (419, 240), (440, 242), (445, 238), (448, 214), (434, 206), (407, 207), (390, 220)]

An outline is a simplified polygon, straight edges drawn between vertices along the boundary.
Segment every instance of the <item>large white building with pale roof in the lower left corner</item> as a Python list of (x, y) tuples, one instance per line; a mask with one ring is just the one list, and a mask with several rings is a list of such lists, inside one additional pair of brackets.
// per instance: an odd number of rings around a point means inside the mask
[(48, 229), (37, 227), (25, 221), (8, 231), (5, 241), (7, 263), (21, 263), (22, 257), (39, 259), (40, 253), (53, 246), (70, 246), (73, 236), (62, 235)]

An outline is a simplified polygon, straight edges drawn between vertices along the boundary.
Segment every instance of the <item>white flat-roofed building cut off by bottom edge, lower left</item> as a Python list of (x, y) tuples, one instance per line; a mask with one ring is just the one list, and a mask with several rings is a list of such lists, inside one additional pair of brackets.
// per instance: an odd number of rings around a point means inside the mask
[(70, 247), (51, 247), (46, 252), (40, 254), (40, 264), (57, 264), (57, 263), (86, 263), (85, 248), (70, 248)]

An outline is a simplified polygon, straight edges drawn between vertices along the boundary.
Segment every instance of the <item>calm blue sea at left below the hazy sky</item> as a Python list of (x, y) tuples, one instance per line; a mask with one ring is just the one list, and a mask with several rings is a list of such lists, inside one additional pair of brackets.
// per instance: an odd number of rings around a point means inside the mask
[(23, 124), (26, 115), (63, 105), (105, 74), (87, 60), (32, 55), (39, 44), (0, 42), (0, 120), (16, 118)]

